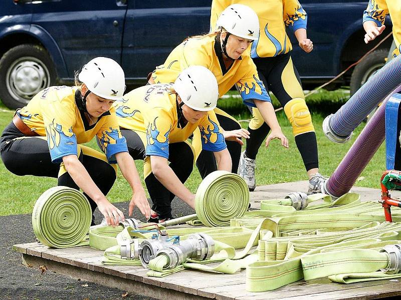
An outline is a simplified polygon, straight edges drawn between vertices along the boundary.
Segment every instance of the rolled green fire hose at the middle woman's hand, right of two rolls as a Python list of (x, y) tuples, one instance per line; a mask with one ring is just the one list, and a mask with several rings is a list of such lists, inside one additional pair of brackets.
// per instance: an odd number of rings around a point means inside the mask
[(195, 214), (160, 223), (175, 225), (198, 218), (209, 227), (229, 226), (230, 219), (240, 217), (248, 210), (249, 188), (238, 174), (214, 171), (207, 175), (197, 188)]

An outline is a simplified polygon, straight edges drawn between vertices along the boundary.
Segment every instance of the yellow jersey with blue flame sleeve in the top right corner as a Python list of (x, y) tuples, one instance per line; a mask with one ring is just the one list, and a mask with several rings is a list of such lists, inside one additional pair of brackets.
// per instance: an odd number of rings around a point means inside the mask
[(387, 14), (392, 22), (392, 36), (396, 45), (392, 53), (395, 57), (401, 52), (401, 0), (369, 0), (363, 12), (363, 22), (374, 21), (381, 26)]

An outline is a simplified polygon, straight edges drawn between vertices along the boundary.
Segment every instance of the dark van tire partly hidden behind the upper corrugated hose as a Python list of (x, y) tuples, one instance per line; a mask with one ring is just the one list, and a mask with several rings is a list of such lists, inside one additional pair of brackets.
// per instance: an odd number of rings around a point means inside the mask
[(377, 72), (385, 64), (385, 58), (388, 50), (379, 49), (369, 53), (361, 62), (359, 62), (352, 71), (349, 92), (352, 96), (371, 75)]

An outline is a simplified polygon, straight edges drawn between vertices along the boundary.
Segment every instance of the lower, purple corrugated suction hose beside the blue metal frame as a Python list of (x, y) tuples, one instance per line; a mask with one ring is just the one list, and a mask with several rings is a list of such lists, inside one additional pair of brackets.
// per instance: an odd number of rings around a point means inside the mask
[(385, 104), (401, 85), (396, 87), (383, 101), (363, 128), (340, 164), (325, 183), (325, 189), (333, 196), (339, 197), (347, 193), (356, 179), (376, 153), (385, 138)]

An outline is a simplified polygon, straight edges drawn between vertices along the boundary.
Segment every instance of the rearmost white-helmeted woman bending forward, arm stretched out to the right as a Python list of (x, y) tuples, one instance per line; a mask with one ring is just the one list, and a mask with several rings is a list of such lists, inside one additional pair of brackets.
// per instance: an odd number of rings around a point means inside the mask
[[(247, 50), (259, 36), (258, 16), (250, 7), (234, 4), (223, 11), (218, 23), (219, 27), (215, 31), (192, 36), (176, 46), (166, 61), (149, 76), (149, 83), (173, 82), (185, 67), (203, 65), (216, 76), (220, 95), (224, 95), (236, 84), (244, 103), (259, 108), (263, 119), (272, 128), (266, 146), (272, 139), (279, 138), (281, 144), (288, 147), (288, 139), (281, 131), (269, 94)], [(238, 121), (221, 109), (216, 108), (215, 112), (224, 129), (227, 147), (233, 159), (232, 172), (236, 173), (243, 144), (241, 138), (248, 138), (249, 131), (241, 129)], [(193, 145), (198, 149), (200, 143), (196, 135)], [(216, 169), (213, 155), (207, 151), (200, 152), (196, 165), (202, 177)]]

